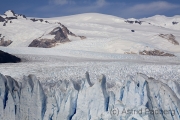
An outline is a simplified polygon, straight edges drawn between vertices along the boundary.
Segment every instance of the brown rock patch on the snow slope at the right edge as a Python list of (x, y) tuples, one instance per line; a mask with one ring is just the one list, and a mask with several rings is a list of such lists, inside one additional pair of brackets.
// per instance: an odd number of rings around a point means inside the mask
[(171, 42), (174, 45), (179, 45), (179, 42), (176, 41), (176, 37), (173, 34), (160, 34), (159, 36), (167, 39), (169, 42)]

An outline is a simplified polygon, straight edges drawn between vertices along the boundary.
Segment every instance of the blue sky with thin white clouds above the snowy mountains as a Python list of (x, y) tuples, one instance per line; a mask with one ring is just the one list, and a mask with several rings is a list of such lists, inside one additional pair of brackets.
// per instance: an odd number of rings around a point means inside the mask
[(0, 0), (0, 14), (9, 9), (28, 17), (103, 13), (142, 18), (180, 15), (180, 0)]

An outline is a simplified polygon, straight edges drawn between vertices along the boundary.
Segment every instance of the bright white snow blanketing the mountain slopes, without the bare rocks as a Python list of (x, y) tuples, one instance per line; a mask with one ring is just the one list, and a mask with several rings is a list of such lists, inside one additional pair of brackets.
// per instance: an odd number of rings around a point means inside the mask
[[(8, 12), (9, 13), (9, 12)], [(139, 53), (143, 50), (158, 49), (169, 53), (179, 53), (179, 45), (173, 45), (159, 34), (173, 34), (180, 42), (180, 17), (153, 16), (140, 19), (142, 24), (126, 23), (126, 19), (97, 13), (86, 13), (65, 17), (43, 18), (50, 23), (32, 22), (30, 18), (13, 19), (6, 26), (0, 23), (0, 31), (5, 40), (12, 40), (9, 47), (27, 47), (34, 39), (51, 38), (44, 36), (59, 26), (65, 25), (76, 35), (86, 36), (87, 39), (77, 40), (69, 37), (71, 42), (58, 44), (55, 48), (106, 53)], [(136, 20), (136, 19), (129, 19)], [(172, 22), (178, 22), (173, 25)], [(148, 24), (151, 23), (151, 24)], [(164, 25), (166, 24), (166, 26)], [(14, 29), (15, 28), (15, 29)], [(134, 30), (135, 32), (131, 32)], [(54, 48), (52, 48), (54, 49)]]

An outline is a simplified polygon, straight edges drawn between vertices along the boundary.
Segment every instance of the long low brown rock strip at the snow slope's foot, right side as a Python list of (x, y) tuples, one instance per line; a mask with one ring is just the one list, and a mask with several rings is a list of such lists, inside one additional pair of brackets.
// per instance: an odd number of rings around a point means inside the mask
[(171, 53), (165, 53), (163, 51), (159, 51), (159, 50), (144, 50), (142, 52), (139, 52), (140, 55), (152, 55), (152, 56), (169, 56), (169, 57), (175, 57), (174, 54)]

